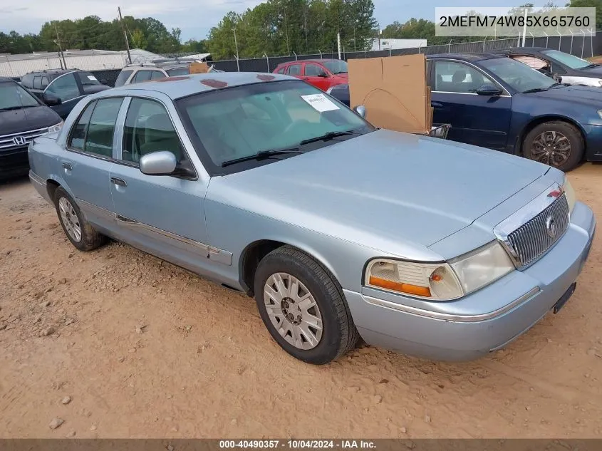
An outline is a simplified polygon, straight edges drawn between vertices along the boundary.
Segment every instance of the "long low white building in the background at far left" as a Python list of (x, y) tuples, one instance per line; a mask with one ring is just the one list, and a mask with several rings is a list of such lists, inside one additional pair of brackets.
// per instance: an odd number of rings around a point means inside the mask
[[(108, 50), (66, 50), (63, 51), (67, 68), (83, 71), (120, 69), (128, 63), (126, 51)], [(130, 50), (133, 63), (146, 63), (162, 58), (156, 53), (133, 48)], [(0, 76), (22, 77), (33, 71), (63, 68), (63, 58), (58, 52), (35, 52), (21, 55), (0, 54)]]

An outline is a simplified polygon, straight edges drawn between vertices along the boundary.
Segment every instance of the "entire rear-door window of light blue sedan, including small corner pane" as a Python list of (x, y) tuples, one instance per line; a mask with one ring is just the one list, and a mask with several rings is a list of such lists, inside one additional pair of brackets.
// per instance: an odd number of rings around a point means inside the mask
[(105, 98), (90, 103), (73, 128), (69, 147), (113, 157), (113, 133), (123, 98)]

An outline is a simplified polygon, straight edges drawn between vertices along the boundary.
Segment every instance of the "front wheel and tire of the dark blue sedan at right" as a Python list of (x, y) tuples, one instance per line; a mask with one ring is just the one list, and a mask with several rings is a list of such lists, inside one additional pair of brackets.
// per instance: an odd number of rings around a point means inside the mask
[(552, 120), (537, 125), (527, 133), (522, 149), (523, 155), (529, 160), (569, 172), (583, 160), (585, 145), (581, 132), (574, 125)]

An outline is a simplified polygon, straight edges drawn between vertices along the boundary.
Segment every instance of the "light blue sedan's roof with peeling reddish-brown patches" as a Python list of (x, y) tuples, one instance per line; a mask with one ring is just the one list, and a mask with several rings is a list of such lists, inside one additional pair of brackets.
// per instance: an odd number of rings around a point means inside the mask
[[(136, 91), (155, 91), (164, 93), (172, 100), (175, 100), (218, 88), (232, 88), (233, 86), (284, 80), (298, 81), (297, 78), (291, 76), (264, 72), (197, 73), (194, 75), (167, 77), (157, 81), (144, 81), (142, 83), (123, 85), (103, 91), (103, 94), (115, 95), (115, 93), (120, 93), (122, 95), (134, 95)], [(204, 81), (209, 83), (203, 83)], [(227, 83), (227, 85), (223, 85), (223, 83)], [(100, 96), (102, 97), (103, 95)]]

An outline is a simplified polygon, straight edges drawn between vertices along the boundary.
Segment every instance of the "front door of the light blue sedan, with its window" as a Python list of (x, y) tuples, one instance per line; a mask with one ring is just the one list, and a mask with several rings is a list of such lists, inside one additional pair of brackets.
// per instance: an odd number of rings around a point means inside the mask
[(145, 175), (142, 155), (168, 150), (192, 167), (167, 108), (157, 100), (131, 98), (110, 192), (120, 239), (193, 271), (209, 266), (204, 195), (207, 180)]

